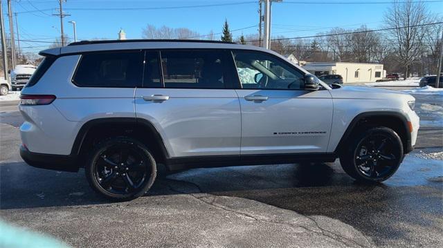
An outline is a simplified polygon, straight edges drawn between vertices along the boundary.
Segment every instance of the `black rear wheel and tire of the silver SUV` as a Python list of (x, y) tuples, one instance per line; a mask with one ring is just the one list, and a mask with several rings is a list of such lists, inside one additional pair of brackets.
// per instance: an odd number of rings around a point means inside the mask
[(147, 147), (129, 137), (104, 140), (85, 165), (89, 185), (105, 198), (132, 200), (144, 195), (156, 178), (156, 162)]

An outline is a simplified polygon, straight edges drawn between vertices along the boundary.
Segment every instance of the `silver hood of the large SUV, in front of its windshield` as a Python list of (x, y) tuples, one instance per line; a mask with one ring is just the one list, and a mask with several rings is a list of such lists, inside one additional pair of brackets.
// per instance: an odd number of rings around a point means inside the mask
[(333, 98), (344, 99), (386, 99), (390, 97), (415, 99), (412, 95), (402, 91), (365, 86), (342, 86), (341, 88), (329, 90), (329, 92)]

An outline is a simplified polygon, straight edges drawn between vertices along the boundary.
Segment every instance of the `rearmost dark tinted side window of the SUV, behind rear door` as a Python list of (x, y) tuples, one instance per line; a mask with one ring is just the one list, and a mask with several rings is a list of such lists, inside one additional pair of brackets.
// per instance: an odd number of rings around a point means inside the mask
[(82, 55), (74, 84), (84, 87), (135, 87), (143, 76), (143, 54), (137, 52)]

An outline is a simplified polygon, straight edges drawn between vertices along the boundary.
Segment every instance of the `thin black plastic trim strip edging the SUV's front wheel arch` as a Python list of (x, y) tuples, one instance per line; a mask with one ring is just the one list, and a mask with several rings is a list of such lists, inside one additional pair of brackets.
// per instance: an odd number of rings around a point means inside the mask
[(356, 117), (354, 117), (354, 119), (350, 122), (350, 124), (347, 126), (345, 133), (343, 134), (343, 136), (341, 137), (340, 142), (338, 142), (336, 149), (334, 150), (334, 153), (336, 154), (340, 154), (341, 151), (343, 151), (343, 149), (345, 148), (345, 143), (347, 142), (347, 139), (350, 137), (352, 131), (354, 130), (354, 128), (356, 127), (357, 124), (359, 124), (359, 122), (365, 118), (368, 117), (397, 117), (399, 118), (399, 120), (401, 120), (401, 123), (404, 125), (403, 127), (406, 130), (406, 140), (402, 140), (402, 142), (406, 143), (406, 146), (404, 146), (404, 153), (409, 153), (410, 151), (413, 151), (413, 146), (411, 145), (411, 135), (410, 135), (410, 131), (409, 131), (409, 126), (408, 126), (408, 119), (406, 118), (406, 116), (404, 116), (403, 114), (399, 113), (399, 112), (395, 112), (395, 111), (370, 111), (370, 112), (363, 112), (360, 113), (359, 115), (356, 115)]

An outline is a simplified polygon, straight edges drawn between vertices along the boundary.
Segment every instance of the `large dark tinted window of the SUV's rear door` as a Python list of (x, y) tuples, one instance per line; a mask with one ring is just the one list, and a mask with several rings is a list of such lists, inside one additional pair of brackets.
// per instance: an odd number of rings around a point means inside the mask
[(217, 50), (162, 51), (165, 88), (225, 88), (224, 60)]

